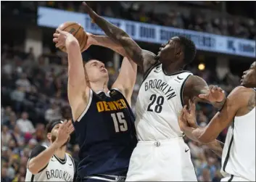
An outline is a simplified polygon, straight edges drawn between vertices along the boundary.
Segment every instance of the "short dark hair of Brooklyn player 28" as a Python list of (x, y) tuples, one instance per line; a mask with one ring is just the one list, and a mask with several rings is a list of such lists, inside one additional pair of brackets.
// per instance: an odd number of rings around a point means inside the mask
[(181, 45), (183, 46), (184, 62), (186, 65), (189, 65), (189, 63), (194, 60), (194, 57), (197, 54), (196, 45), (194, 45), (193, 41), (184, 36), (178, 36), (178, 38), (180, 38)]

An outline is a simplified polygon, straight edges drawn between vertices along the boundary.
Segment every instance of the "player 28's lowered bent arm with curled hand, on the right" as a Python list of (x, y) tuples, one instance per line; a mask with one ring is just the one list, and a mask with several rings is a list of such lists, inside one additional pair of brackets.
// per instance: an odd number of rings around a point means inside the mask
[(206, 102), (221, 109), (226, 102), (226, 95), (220, 87), (208, 86), (204, 79), (191, 75), (184, 86), (183, 104), (189, 105), (189, 99), (195, 102)]

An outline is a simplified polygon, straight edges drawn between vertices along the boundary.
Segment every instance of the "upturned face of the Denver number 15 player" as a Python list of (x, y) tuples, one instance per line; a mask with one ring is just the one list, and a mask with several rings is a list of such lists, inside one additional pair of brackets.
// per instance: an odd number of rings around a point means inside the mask
[(102, 81), (102, 79), (104, 81), (109, 79), (107, 69), (103, 62), (91, 60), (90, 62), (86, 63), (85, 69), (90, 82), (99, 82)]

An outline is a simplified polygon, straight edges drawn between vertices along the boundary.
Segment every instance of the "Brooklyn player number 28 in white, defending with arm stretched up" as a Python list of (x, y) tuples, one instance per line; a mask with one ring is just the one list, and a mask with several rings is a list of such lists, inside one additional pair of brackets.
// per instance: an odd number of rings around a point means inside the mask
[[(155, 55), (141, 49), (127, 33), (97, 15), (86, 3), (86, 12), (104, 33), (125, 49), (144, 70), (136, 102), (136, 132), (139, 143), (131, 156), (126, 181), (197, 181), (189, 147), (183, 141), (178, 114), (189, 99), (220, 107), (225, 99), (221, 88), (212, 88), (202, 78), (183, 70), (196, 54), (188, 38), (171, 38)], [(200, 94), (206, 94), (200, 99)], [(218, 141), (211, 149), (222, 151)]]

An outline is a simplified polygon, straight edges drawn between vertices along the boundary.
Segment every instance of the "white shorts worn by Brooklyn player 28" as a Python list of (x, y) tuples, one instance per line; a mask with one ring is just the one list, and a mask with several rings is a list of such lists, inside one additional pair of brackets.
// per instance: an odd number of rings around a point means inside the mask
[(183, 138), (139, 141), (126, 181), (197, 181), (189, 146)]

